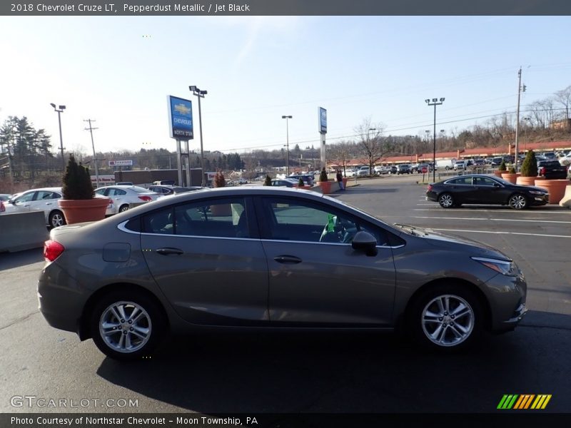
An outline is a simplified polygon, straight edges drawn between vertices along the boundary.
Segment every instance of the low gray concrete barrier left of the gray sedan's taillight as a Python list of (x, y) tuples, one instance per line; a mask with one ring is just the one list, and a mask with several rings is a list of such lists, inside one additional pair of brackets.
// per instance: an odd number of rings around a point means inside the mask
[(41, 248), (48, 239), (44, 211), (0, 215), (0, 253)]

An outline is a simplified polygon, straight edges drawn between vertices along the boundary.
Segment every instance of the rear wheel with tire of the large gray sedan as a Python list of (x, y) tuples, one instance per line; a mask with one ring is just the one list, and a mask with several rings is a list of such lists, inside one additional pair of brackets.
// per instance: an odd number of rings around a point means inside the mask
[[(118, 318), (121, 312), (124, 318)], [(131, 315), (134, 320), (129, 320)], [(96, 303), (90, 328), (91, 337), (103, 354), (114, 360), (132, 361), (151, 355), (163, 338), (166, 320), (161, 307), (151, 297), (117, 290)], [(104, 331), (108, 334), (104, 335)]]

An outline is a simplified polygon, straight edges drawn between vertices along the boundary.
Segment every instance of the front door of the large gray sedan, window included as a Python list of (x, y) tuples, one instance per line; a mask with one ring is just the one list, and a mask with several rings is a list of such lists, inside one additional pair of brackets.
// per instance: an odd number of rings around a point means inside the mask
[(331, 205), (287, 197), (256, 202), (269, 270), (272, 325), (389, 325), (395, 266), (388, 246), (353, 250), (358, 230), (385, 244), (383, 230)]

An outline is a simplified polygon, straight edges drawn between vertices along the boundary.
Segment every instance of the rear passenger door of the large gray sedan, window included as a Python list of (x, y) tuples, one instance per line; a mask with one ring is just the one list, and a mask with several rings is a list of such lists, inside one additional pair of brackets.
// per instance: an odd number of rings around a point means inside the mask
[(141, 248), (151, 274), (184, 320), (268, 322), (268, 267), (245, 198), (206, 198), (144, 215)]

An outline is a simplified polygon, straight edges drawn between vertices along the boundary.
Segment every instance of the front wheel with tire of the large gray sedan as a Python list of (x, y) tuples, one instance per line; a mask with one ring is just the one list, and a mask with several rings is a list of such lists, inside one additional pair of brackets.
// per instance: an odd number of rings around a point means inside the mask
[(475, 292), (465, 285), (440, 284), (415, 298), (407, 325), (419, 345), (450, 352), (470, 347), (479, 339), (484, 311)]

